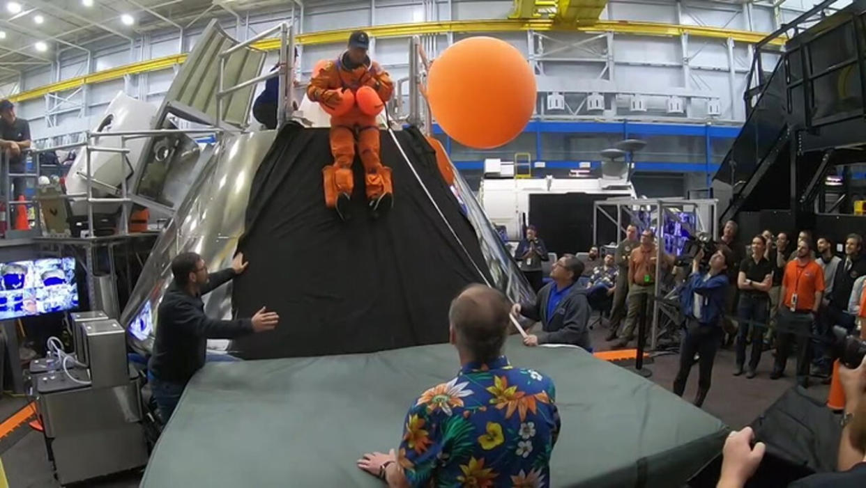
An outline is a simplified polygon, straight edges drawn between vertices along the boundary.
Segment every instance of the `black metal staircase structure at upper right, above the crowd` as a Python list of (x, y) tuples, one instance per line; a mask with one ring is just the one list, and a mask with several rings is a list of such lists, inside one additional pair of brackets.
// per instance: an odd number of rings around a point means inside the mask
[[(825, 16), (830, 3), (754, 46), (748, 118), (714, 177), (716, 196), (730, 196), (722, 221), (766, 209), (791, 210), (793, 222), (823, 212), (830, 171), (866, 160), (866, 1)], [(766, 46), (786, 32), (794, 35), (766, 72)]]

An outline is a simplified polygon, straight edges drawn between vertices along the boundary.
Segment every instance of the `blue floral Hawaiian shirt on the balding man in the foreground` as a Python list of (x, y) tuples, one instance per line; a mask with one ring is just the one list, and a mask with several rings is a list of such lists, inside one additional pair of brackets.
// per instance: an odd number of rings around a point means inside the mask
[(550, 378), (505, 356), (469, 363), (410, 408), (397, 462), (412, 486), (549, 486), (555, 396)]

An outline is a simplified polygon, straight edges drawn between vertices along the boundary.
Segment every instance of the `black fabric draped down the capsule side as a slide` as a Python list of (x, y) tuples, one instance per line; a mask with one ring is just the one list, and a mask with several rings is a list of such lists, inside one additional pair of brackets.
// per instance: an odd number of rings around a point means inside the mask
[(352, 220), (341, 222), (325, 207), (322, 187), (322, 168), (333, 163), (328, 129), (282, 129), (253, 179), (238, 246), (249, 268), (233, 289), (239, 317), (267, 306), (280, 324), (234, 341), (237, 356), (321, 356), (448, 341), (450, 299), (463, 286), (483, 283), (480, 270), (489, 272), (430, 144), (413, 127), (395, 133), (423, 186), (382, 131), (394, 207), (371, 218), (356, 157)]

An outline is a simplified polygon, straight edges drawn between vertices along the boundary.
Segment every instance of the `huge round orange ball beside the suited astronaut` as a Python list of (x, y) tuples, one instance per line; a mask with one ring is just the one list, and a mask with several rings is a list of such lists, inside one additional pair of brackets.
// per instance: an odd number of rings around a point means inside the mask
[(430, 67), (427, 99), (436, 122), (457, 142), (491, 149), (516, 138), (535, 110), (535, 75), (511, 44), (469, 37)]

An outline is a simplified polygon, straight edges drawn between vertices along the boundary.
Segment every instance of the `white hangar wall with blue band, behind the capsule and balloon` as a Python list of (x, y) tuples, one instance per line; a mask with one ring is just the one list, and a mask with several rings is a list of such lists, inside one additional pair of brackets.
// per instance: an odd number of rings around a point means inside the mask
[[(279, 8), (253, 10), (245, 16), (230, 16), (223, 10), (212, 10), (231, 35), (248, 38), (263, 29), (287, 19), (303, 33), (324, 29), (366, 27), (404, 22), (438, 22), (504, 19), (512, 10), (507, 0), (306, 0), (301, 10), (294, 3)], [(638, 171), (667, 173), (683, 184), (701, 182), (694, 174), (711, 175), (733, 141), (736, 127), (745, 119), (741, 93), (751, 65), (751, 48), (737, 41), (738, 31), (770, 32), (781, 23), (811, 7), (807, 0), (772, 3), (728, 3), (675, 0), (611, 1), (602, 12), (602, 20), (660, 22), (730, 29), (727, 38), (696, 35), (650, 36), (620, 33), (520, 31), (492, 34), (519, 48), (533, 65), (539, 77), (538, 124), (527, 128), (514, 142), (494, 151), (474, 151), (460, 144), (448, 144), (458, 168), (468, 172), (469, 179), (478, 172), (485, 157), (511, 159), (515, 152), (529, 152), (533, 159), (546, 160), (543, 172), (565, 170), (580, 163), (598, 161), (598, 151), (628, 137), (642, 137), (649, 142), (640, 155)], [(132, 43), (107, 35), (86, 45), (92, 55), (81, 49), (61, 48), (50, 67), (24, 72), (16, 82), (0, 85), (0, 94), (27, 91), (81, 74), (102, 71), (131, 62), (144, 61), (188, 51), (196, 42), (208, 16), (184, 31), (164, 29), (167, 24), (152, 27), (135, 37)], [(155, 19), (153, 19), (155, 20)], [(435, 55), (462, 37), (473, 34), (446, 33), (430, 35), (429, 50)], [(60, 46), (57, 46), (60, 48)], [(306, 80), (315, 61), (339, 55), (341, 44), (315, 44), (301, 48), (298, 73)], [(408, 72), (408, 48), (405, 38), (374, 39), (376, 59), (399, 78)], [(123, 79), (87, 85), (81, 90), (47, 94), (23, 101), (19, 114), (29, 119), (36, 138), (43, 145), (73, 142), (78, 134), (91, 127), (114, 94), (124, 91), (139, 100), (158, 102), (167, 90), (175, 68)], [(482, 89), (480, 87), (480, 89)], [(548, 110), (549, 91), (565, 96), (565, 110)], [(586, 96), (604, 94), (603, 112), (589, 111)], [(645, 111), (633, 111), (632, 98), (639, 97)], [(670, 97), (683, 102), (682, 113), (669, 112)], [(709, 106), (718, 104), (721, 112), (711, 115)], [(644, 133), (630, 131), (644, 124), (655, 125)], [(729, 133), (710, 134), (703, 125), (730, 126)], [(698, 125), (697, 127), (693, 125)], [(682, 176), (691, 173), (692, 176)], [(667, 183), (664, 183), (667, 184)], [(685, 188), (690, 188), (686, 184)]]

